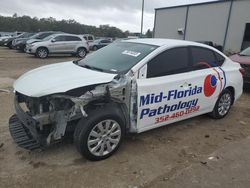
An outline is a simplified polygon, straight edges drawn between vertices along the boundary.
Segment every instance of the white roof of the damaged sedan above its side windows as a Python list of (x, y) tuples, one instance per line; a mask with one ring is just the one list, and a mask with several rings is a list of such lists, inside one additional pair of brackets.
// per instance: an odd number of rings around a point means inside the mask
[(165, 47), (175, 47), (175, 46), (201, 46), (208, 48), (208, 45), (186, 41), (186, 40), (175, 40), (175, 39), (161, 39), (161, 38), (144, 38), (144, 39), (129, 39), (122, 42), (133, 42), (141, 44), (149, 44), (154, 46), (165, 46)]

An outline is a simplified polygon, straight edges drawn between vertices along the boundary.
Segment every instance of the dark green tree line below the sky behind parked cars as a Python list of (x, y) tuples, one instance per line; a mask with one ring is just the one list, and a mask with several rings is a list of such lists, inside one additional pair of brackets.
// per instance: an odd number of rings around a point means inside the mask
[[(37, 18), (30, 16), (17, 16), (14, 14), (12, 17), (0, 15), (0, 31), (4, 32), (40, 32), (40, 31), (62, 31), (72, 34), (93, 34), (99, 37), (118, 37), (125, 38), (131, 34), (129, 31), (123, 32), (121, 29), (109, 26), (100, 25), (99, 27), (80, 24), (75, 20), (56, 20), (55, 18)], [(146, 33), (147, 37), (152, 36), (150, 30)]]

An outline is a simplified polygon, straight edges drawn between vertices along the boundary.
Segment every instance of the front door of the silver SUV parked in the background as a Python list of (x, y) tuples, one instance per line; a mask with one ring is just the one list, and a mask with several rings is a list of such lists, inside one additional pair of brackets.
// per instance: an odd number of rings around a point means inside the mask
[(49, 44), (50, 53), (65, 52), (66, 38), (64, 35), (59, 35), (53, 38)]

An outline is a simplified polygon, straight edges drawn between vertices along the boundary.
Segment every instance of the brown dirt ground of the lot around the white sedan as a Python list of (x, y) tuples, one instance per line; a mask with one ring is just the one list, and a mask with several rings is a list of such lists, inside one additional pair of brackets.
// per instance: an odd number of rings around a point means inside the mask
[(13, 81), (33, 68), (73, 59), (41, 60), (0, 48), (0, 187), (250, 187), (249, 89), (222, 120), (203, 115), (129, 136), (104, 161), (87, 161), (71, 142), (45, 151), (17, 147), (8, 131)]

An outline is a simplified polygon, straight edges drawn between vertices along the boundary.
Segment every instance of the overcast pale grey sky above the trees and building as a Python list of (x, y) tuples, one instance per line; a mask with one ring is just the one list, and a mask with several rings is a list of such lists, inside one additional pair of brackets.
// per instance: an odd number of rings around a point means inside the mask
[[(144, 32), (153, 28), (154, 9), (214, 0), (145, 0)], [(74, 19), (86, 25), (109, 24), (123, 31), (140, 31), (142, 0), (0, 0), (0, 15)], [(1, 30), (1, 26), (0, 26)]]

